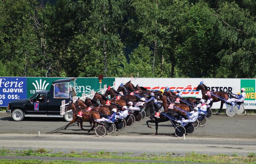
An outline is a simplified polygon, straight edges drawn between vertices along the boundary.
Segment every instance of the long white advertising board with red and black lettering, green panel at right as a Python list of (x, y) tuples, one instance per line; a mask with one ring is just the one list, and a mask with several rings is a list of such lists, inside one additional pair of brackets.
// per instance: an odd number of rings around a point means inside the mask
[[(116, 83), (129, 81), (130, 78), (115, 78)], [(217, 78), (134, 78), (132, 82), (135, 86), (143, 86), (149, 90), (160, 90), (166, 86), (170, 90), (182, 90), (184, 97), (202, 98), (201, 91), (196, 91), (196, 87), (203, 82), (209, 90), (224, 91), (228, 93), (240, 93), (240, 89), (245, 88), (246, 99), (245, 109), (256, 109), (255, 79), (217, 79)], [(220, 107), (220, 101), (213, 103), (214, 109)], [(223, 109), (226, 105), (223, 105)]]

